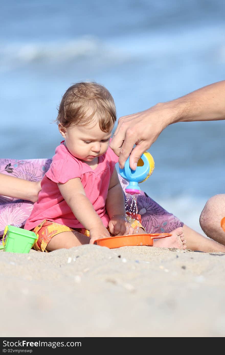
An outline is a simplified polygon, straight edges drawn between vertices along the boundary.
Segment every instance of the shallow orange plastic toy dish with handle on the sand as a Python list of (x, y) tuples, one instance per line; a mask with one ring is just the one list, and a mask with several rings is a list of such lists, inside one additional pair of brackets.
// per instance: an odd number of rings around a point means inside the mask
[(97, 239), (95, 243), (97, 245), (106, 246), (109, 249), (120, 248), (121, 246), (153, 246), (154, 238), (166, 238), (171, 235), (172, 234), (168, 233), (118, 235), (116, 237)]

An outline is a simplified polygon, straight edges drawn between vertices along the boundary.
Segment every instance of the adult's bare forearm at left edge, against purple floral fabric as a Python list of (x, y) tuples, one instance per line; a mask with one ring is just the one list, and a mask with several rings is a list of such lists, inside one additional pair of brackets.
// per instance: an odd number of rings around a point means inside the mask
[(0, 195), (36, 202), (41, 181), (28, 181), (0, 173)]

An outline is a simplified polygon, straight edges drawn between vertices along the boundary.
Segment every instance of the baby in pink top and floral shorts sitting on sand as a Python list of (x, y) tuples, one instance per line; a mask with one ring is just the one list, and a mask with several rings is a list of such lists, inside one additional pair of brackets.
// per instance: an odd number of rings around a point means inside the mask
[[(122, 186), (109, 148), (116, 107), (109, 91), (95, 82), (70, 86), (59, 105), (63, 141), (55, 149), (42, 190), (25, 229), (38, 236), (37, 251), (53, 251), (113, 235), (145, 233), (140, 215), (127, 215)], [(186, 248), (183, 229), (155, 246)]]

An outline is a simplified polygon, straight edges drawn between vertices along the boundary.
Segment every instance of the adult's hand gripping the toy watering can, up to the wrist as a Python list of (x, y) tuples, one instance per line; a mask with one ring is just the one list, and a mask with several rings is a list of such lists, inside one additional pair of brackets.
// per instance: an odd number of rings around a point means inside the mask
[(119, 157), (120, 168), (123, 169), (130, 155), (130, 168), (135, 170), (141, 155), (170, 123), (171, 110), (167, 108), (167, 103), (159, 103), (148, 110), (120, 117), (110, 143)]

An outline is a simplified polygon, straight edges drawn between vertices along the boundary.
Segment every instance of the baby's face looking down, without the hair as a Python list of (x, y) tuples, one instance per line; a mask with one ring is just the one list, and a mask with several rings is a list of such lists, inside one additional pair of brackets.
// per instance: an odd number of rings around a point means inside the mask
[(76, 125), (67, 128), (62, 128), (59, 124), (59, 131), (69, 152), (85, 162), (92, 162), (107, 151), (112, 129), (103, 132), (98, 122), (94, 126)]

